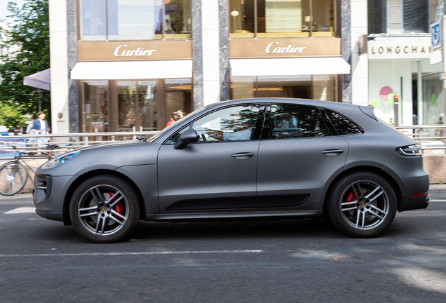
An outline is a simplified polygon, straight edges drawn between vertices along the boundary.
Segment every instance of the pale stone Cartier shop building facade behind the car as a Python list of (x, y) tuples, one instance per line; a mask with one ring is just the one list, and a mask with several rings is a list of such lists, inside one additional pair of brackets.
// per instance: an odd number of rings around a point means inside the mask
[(245, 97), (367, 105), (363, 34), (366, 0), (50, 0), (53, 131), (161, 130)]

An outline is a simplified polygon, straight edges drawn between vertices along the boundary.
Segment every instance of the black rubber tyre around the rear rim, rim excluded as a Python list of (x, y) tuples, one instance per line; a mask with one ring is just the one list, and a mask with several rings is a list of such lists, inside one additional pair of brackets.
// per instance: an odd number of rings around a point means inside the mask
[[(381, 186), (388, 196), (389, 201), (389, 209), (387, 217), (384, 219), (384, 222), (379, 224), (378, 227), (369, 229), (369, 230), (360, 230), (354, 227), (351, 227), (342, 216), (342, 212), (339, 209), (339, 203), (341, 200), (341, 195), (350, 184), (358, 180), (370, 180), (377, 182), (379, 186)], [(328, 215), (330, 220), (340, 231), (344, 232), (344, 234), (348, 234), (349, 236), (353, 236), (356, 238), (370, 238), (372, 236), (377, 236), (385, 231), (393, 222), (395, 218), (397, 210), (397, 200), (396, 194), (391, 184), (376, 173), (370, 172), (357, 172), (351, 173), (349, 175), (344, 176), (341, 180), (334, 184), (334, 187), (330, 191), (330, 198), (328, 201)]]

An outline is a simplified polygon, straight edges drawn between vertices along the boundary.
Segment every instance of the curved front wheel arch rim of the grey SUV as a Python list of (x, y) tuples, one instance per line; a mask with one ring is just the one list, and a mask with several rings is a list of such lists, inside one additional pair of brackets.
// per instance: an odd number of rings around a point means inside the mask
[(133, 180), (131, 180), (130, 177), (124, 175), (123, 173), (119, 173), (116, 170), (99, 169), (99, 170), (91, 170), (88, 173), (79, 175), (79, 177), (77, 177), (76, 180), (74, 180), (72, 184), (69, 185), (69, 188), (67, 189), (67, 192), (65, 194), (63, 211), (62, 211), (64, 225), (72, 225), (72, 222), (69, 218), (69, 202), (71, 201), (71, 198), (76, 188), (79, 187), (79, 185), (81, 185), (82, 182), (84, 182), (85, 180), (90, 179), (91, 177), (96, 177), (98, 175), (113, 175), (115, 177), (123, 179), (128, 184), (130, 184), (130, 186), (133, 188), (138, 198), (138, 205), (140, 206), (140, 220), (146, 219), (145, 217), (146, 207), (144, 204), (144, 198), (142, 197), (142, 193), (135, 184), (135, 182), (133, 182)]

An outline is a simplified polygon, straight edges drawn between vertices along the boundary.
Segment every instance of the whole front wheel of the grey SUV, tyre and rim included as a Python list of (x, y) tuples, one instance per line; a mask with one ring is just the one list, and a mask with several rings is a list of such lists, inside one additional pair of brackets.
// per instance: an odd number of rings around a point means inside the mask
[(69, 217), (84, 238), (96, 243), (114, 243), (135, 229), (140, 206), (127, 182), (100, 175), (86, 180), (74, 191)]

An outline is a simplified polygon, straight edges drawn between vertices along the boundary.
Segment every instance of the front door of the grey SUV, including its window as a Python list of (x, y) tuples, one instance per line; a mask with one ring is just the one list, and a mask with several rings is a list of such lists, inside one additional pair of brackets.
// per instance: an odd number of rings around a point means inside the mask
[[(255, 210), (263, 112), (259, 105), (217, 109), (170, 137), (158, 153), (160, 213)], [(198, 142), (174, 149), (191, 128)]]

